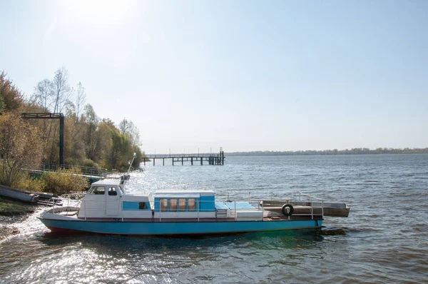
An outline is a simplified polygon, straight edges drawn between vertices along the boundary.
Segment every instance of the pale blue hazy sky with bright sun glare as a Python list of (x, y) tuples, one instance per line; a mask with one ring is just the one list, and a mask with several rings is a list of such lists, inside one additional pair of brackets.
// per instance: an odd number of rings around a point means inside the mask
[(428, 1), (0, 0), (0, 71), (64, 66), (146, 153), (428, 147)]

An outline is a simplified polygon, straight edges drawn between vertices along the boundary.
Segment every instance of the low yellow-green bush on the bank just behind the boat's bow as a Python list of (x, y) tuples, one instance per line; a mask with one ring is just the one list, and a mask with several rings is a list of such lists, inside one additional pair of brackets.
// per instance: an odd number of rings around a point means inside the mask
[(44, 190), (57, 196), (64, 193), (84, 191), (88, 182), (83, 176), (78, 176), (78, 173), (75, 169), (44, 173), (41, 176), (41, 180), (45, 184)]

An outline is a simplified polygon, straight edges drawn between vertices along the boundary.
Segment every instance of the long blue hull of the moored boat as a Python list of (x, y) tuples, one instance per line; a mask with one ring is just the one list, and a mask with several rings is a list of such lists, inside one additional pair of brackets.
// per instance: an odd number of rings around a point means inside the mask
[(79, 231), (118, 235), (210, 235), (269, 230), (320, 228), (322, 220), (215, 222), (100, 222), (39, 218), (52, 231)]

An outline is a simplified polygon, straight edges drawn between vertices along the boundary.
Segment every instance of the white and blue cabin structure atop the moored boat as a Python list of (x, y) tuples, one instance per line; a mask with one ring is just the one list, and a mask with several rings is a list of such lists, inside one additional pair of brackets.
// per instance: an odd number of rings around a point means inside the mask
[(124, 181), (103, 180), (92, 183), (82, 199), (78, 218), (220, 217), (216, 213), (214, 191), (126, 193)]

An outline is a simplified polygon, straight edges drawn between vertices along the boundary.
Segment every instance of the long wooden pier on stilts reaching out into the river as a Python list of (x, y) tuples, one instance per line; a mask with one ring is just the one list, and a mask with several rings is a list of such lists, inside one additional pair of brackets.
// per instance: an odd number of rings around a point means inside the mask
[(156, 160), (162, 160), (162, 166), (165, 166), (165, 160), (169, 161), (172, 166), (176, 163), (181, 163), (181, 166), (184, 166), (184, 163), (190, 162), (190, 165), (199, 165), (203, 166), (204, 162), (208, 165), (218, 165), (223, 166), (225, 164), (225, 152), (220, 151), (215, 154), (158, 154), (158, 155), (146, 155), (146, 158), (141, 158), (144, 166), (146, 163), (153, 161), (153, 166), (156, 165)]

